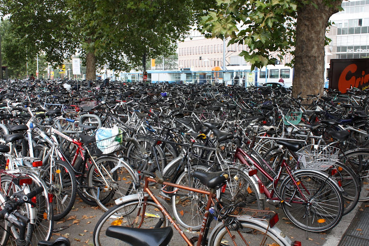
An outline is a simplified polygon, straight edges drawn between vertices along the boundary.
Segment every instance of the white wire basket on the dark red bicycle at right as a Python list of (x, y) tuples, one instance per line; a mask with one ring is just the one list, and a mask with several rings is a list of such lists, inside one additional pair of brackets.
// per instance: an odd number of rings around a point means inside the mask
[(308, 145), (296, 152), (302, 168), (324, 171), (338, 161), (339, 148)]

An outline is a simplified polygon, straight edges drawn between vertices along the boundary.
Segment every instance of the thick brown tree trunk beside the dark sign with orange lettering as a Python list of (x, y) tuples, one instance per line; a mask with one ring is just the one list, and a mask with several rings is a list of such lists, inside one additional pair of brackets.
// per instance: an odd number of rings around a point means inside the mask
[(295, 71), (292, 96), (302, 92), (302, 97), (320, 96), (324, 88), (324, 43), (329, 17), (337, 12), (342, 0), (328, 7), (322, 0), (312, 0), (318, 5), (301, 5), (297, 12)]

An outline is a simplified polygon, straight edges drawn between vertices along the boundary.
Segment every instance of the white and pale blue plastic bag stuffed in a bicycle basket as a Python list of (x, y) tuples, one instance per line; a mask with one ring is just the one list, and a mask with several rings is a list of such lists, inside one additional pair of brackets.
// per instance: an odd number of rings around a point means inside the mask
[(119, 134), (119, 129), (117, 126), (113, 128), (101, 127), (96, 131), (96, 146), (102, 152), (102, 154), (110, 154), (119, 148), (120, 142), (117, 141), (117, 136)]

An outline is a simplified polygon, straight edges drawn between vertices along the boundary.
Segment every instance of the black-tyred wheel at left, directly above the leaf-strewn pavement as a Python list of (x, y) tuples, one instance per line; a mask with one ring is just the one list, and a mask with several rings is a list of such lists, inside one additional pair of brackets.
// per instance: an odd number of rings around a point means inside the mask
[(76, 176), (71, 166), (60, 160), (53, 162), (51, 173), (50, 164), (43, 166), (43, 169), (45, 172), (42, 179), (54, 195), (52, 199), (54, 219), (60, 220), (67, 216), (76, 200)]

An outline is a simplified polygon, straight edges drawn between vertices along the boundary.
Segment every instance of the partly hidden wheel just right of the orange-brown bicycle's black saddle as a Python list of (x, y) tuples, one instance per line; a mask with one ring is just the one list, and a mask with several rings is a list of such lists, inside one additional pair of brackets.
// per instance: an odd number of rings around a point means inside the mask
[(263, 210), (264, 201), (259, 198), (258, 190), (253, 185), (255, 181), (242, 170), (229, 168), (228, 172), (230, 179), (224, 187), (224, 192), (220, 193), (221, 200), (226, 204), (235, 204), (244, 201), (246, 202), (244, 207)]

